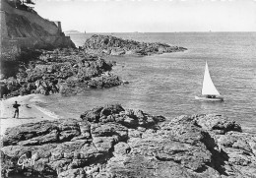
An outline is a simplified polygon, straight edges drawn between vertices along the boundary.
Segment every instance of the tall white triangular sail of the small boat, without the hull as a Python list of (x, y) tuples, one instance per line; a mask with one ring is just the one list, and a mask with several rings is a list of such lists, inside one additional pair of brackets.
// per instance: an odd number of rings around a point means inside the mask
[(205, 69), (205, 75), (204, 75), (202, 95), (220, 95), (220, 92), (216, 89), (211, 79), (207, 62), (206, 62), (206, 69)]

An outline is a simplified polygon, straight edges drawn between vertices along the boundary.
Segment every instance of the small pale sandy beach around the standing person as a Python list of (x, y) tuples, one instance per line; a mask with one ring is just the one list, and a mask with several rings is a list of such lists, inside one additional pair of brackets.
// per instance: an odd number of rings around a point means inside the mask
[[(42, 107), (35, 104), (39, 101), (40, 95), (30, 94), (24, 96), (11, 97), (1, 100), (0, 103), (0, 128), (1, 135), (3, 136), (7, 128), (19, 126), (30, 122), (39, 122), (42, 120), (58, 119), (58, 116)], [(19, 107), (19, 118), (13, 118), (15, 109), (13, 104), (18, 101), (21, 106)]]

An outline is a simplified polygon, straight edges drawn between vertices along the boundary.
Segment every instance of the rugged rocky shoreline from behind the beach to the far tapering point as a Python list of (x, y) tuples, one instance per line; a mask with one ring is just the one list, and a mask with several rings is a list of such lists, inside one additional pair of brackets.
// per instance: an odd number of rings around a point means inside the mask
[(0, 97), (60, 92), (76, 94), (85, 89), (111, 88), (126, 84), (111, 74), (115, 62), (106, 55), (145, 56), (184, 51), (186, 48), (163, 43), (125, 40), (111, 35), (92, 35), (83, 47), (54, 50), (23, 50), (16, 61), (2, 61)]

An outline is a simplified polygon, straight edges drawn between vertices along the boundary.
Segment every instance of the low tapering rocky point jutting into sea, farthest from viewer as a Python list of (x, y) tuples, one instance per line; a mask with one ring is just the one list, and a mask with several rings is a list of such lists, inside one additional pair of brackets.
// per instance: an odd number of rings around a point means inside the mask
[(88, 38), (83, 47), (89, 53), (117, 56), (146, 56), (186, 50), (186, 48), (183, 47), (170, 46), (160, 42), (138, 42), (135, 40), (118, 38), (112, 35), (99, 34), (94, 34)]

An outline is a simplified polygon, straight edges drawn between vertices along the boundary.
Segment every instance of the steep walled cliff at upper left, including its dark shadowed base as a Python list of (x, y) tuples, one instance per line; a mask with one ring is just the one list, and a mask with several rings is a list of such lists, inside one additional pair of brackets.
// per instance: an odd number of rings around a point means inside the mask
[[(20, 70), (28, 68), (30, 61), (37, 60), (40, 53), (37, 49), (76, 48), (70, 37), (62, 32), (60, 22), (41, 18), (19, 0), (2, 0), (0, 3), (0, 80), (16, 78)], [(6, 82), (1, 81), (0, 96), (12, 92), (7, 91), (5, 85)]]

